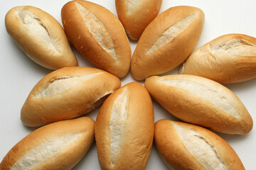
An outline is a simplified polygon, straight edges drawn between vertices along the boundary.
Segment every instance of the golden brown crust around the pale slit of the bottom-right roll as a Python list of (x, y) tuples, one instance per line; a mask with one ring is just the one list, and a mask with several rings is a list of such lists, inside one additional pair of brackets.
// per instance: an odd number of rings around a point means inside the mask
[[(210, 130), (188, 123), (159, 120), (155, 124), (154, 142), (164, 162), (166, 162), (171, 169), (206, 169), (202, 162), (196, 159), (193, 153), (184, 145), (181, 134), (178, 133), (174, 124), (187, 130), (195, 131), (198, 135), (201, 135), (201, 138), (199, 137), (198, 140), (206, 140), (208, 145), (211, 145), (210, 149), (215, 149), (215, 154), (218, 154), (218, 159), (220, 159), (221, 164), (225, 166), (225, 169), (245, 169), (238, 154), (228, 145), (228, 142), (225, 142), (225, 140), (215, 135), (215, 133)], [(201, 148), (198, 149), (198, 152), (201, 152), (203, 149), (203, 146), (200, 145), (193, 147)], [(214, 164), (214, 162), (210, 161), (212, 158), (213, 155), (212, 157), (205, 158), (208, 159), (208, 164)], [(219, 165), (217, 164), (217, 166)], [(217, 166), (215, 169), (218, 169)]]

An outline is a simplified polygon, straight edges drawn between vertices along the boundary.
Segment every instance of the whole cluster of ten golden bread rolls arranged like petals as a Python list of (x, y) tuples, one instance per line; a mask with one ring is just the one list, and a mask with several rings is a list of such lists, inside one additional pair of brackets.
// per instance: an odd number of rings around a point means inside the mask
[[(18, 142), (0, 169), (72, 169), (94, 140), (101, 169), (146, 169), (153, 140), (171, 169), (245, 169), (234, 149), (210, 130), (252, 130), (243, 103), (219, 83), (256, 77), (256, 39), (223, 35), (193, 52), (203, 11), (175, 6), (158, 16), (161, 3), (116, 0), (117, 18), (90, 1), (69, 1), (61, 10), (64, 30), (33, 6), (6, 14), (6, 30), (26, 55), (57, 70), (38, 81), (21, 108), (24, 125), (43, 127)], [(127, 36), (139, 40), (133, 55)], [(68, 38), (100, 69), (77, 67)], [(155, 76), (182, 62), (184, 75)], [(119, 78), (130, 67), (134, 79), (146, 79), (144, 86), (121, 87)], [(151, 97), (186, 123), (154, 124)], [(82, 116), (97, 106), (96, 121)]]

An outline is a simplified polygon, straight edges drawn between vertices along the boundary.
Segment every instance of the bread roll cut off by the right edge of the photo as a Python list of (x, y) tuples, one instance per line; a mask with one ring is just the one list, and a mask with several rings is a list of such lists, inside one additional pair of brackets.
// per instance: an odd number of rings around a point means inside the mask
[(256, 77), (256, 38), (242, 34), (222, 35), (192, 53), (181, 74), (206, 77), (221, 84)]

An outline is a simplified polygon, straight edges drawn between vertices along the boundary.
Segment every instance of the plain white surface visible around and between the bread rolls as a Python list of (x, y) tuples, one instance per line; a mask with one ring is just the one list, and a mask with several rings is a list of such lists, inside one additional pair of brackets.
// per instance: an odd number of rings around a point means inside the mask
[[(114, 0), (91, 0), (97, 4), (105, 6), (112, 13), (117, 15)], [(43, 11), (50, 13), (60, 23), (60, 11), (65, 0), (13, 0), (0, 1), (0, 161), (16, 142), (28, 135), (36, 128), (28, 128), (21, 123), (20, 111), (26, 97), (33, 86), (51, 70), (45, 69), (31, 61), (22, 50), (15, 44), (11, 37), (6, 33), (4, 26), (4, 16), (9, 9), (14, 6), (31, 5), (41, 8)], [(227, 33), (243, 33), (256, 37), (256, 15), (255, 0), (163, 0), (161, 11), (172, 6), (196, 6), (201, 8), (205, 15), (205, 25), (201, 39), (196, 48), (206, 42)], [(137, 42), (131, 42), (132, 51)], [(79, 66), (95, 67), (90, 64), (73, 48), (75, 55), (78, 57)], [(168, 74), (177, 74), (178, 69), (174, 69)], [(129, 73), (122, 79), (122, 86), (131, 81), (135, 81)], [(141, 81), (143, 84), (143, 81)], [(256, 121), (256, 79), (239, 84), (226, 85), (229, 89), (238, 95), (240, 100)], [(95, 119), (97, 108), (87, 116)], [(168, 118), (175, 120), (174, 116), (164, 110), (158, 103), (154, 102), (155, 121)], [(238, 153), (245, 169), (256, 169), (256, 131), (255, 128), (247, 135), (224, 135), (223, 137)], [(97, 149), (95, 143), (87, 152), (81, 162), (74, 169), (100, 169), (97, 162)], [(153, 146), (151, 157), (147, 169), (168, 169), (159, 156), (156, 147)]]

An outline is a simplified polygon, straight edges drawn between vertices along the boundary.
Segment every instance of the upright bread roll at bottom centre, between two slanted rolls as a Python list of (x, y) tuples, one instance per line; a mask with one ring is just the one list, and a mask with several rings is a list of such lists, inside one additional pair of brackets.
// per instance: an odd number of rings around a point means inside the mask
[(101, 169), (146, 169), (154, 110), (141, 84), (127, 84), (107, 98), (97, 115), (95, 137)]

